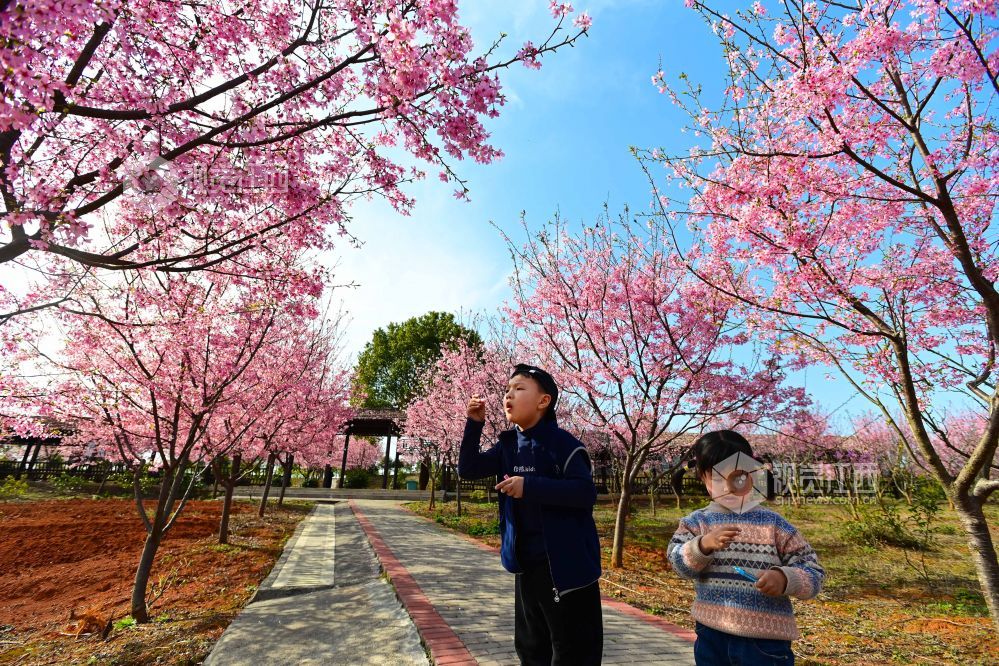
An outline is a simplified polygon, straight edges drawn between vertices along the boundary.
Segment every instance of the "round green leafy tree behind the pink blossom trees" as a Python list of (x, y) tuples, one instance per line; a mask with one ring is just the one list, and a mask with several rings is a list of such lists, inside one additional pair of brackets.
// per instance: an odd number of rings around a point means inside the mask
[(405, 409), (419, 392), (424, 370), (440, 358), (441, 345), (465, 340), (474, 348), (482, 338), (453, 314), (428, 312), (374, 332), (357, 359), (354, 388), (358, 406)]

